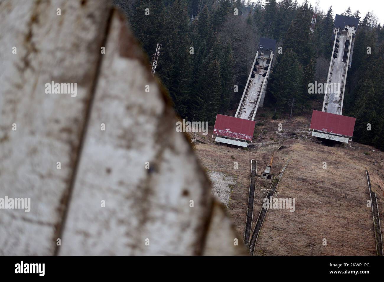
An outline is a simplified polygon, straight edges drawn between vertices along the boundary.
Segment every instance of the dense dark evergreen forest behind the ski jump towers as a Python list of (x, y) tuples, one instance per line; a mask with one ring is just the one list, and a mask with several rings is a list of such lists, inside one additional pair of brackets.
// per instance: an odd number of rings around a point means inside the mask
[[(319, 11), (310, 35), (313, 7), (307, 1), (302, 5), (293, 0), (114, 2), (126, 13), (149, 57), (157, 43), (162, 44), (156, 74), (182, 118), (213, 124), (216, 113), (233, 114), (260, 37), (276, 39), (283, 48), (274, 60), (265, 101), (274, 116), (291, 110), (295, 115), (310, 113), (316, 101), (322, 105), (323, 94), (308, 94), (308, 84), (326, 82), (332, 7)], [(359, 18), (343, 114), (357, 119), (355, 141), (384, 150), (384, 28), (369, 12), (364, 16), (346, 7), (343, 15)]]

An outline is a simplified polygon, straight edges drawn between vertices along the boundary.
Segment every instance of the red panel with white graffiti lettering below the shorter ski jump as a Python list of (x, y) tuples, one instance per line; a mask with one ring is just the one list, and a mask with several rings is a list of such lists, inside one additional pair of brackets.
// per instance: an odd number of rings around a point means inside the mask
[(256, 122), (254, 120), (239, 119), (229, 115), (216, 115), (214, 133), (222, 136), (240, 138), (252, 141)]

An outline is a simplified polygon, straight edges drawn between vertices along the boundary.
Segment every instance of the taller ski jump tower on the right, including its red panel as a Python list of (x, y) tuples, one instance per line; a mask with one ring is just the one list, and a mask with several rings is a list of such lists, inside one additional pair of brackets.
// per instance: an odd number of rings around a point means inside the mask
[(342, 116), (341, 113), (358, 23), (358, 18), (336, 15), (332, 36), (333, 51), (324, 87), (323, 113), (313, 110), (310, 125), (312, 136), (345, 143), (352, 140), (356, 119)]

